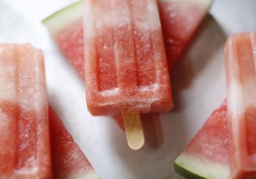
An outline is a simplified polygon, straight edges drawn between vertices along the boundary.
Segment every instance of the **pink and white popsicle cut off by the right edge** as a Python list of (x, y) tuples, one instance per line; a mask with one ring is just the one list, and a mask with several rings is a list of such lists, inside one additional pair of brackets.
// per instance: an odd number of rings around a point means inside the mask
[(232, 178), (243, 179), (256, 175), (255, 42), (255, 33), (241, 33), (230, 36), (226, 44), (227, 110)]

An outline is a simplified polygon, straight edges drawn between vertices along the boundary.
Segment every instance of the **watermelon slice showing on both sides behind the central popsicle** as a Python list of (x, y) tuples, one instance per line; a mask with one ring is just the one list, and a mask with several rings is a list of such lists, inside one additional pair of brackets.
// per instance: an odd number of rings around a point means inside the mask
[[(211, 0), (159, 0), (168, 64), (171, 68), (201, 24)], [(44, 19), (63, 54), (84, 78), (83, 3), (79, 1)]]

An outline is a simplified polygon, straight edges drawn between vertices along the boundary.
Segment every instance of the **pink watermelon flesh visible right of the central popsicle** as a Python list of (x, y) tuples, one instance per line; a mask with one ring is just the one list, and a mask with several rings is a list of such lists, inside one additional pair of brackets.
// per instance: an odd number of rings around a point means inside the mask
[[(206, 2), (206, 1), (205, 1)], [(195, 1), (159, 1), (166, 57), (171, 69), (204, 20), (209, 6)]]

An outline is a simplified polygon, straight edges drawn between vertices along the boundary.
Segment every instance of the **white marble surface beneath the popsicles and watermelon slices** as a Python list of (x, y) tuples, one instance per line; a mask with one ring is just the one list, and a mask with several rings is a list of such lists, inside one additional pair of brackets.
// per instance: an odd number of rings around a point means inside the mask
[(72, 0), (1, 0), (0, 42), (32, 43), (45, 53), (49, 102), (102, 178), (175, 178), (173, 160), (225, 98), (227, 36), (256, 31), (256, 1), (216, 0), (195, 40), (172, 73), (175, 109), (144, 123), (147, 144), (130, 150), (110, 117), (86, 110), (84, 84), (40, 20)]

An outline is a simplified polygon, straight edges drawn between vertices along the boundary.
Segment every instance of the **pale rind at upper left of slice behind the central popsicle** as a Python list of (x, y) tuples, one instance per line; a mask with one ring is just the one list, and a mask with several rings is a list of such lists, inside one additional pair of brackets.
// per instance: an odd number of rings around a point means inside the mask
[(42, 23), (51, 34), (54, 34), (62, 27), (81, 17), (83, 17), (83, 1), (77, 1), (45, 18)]

